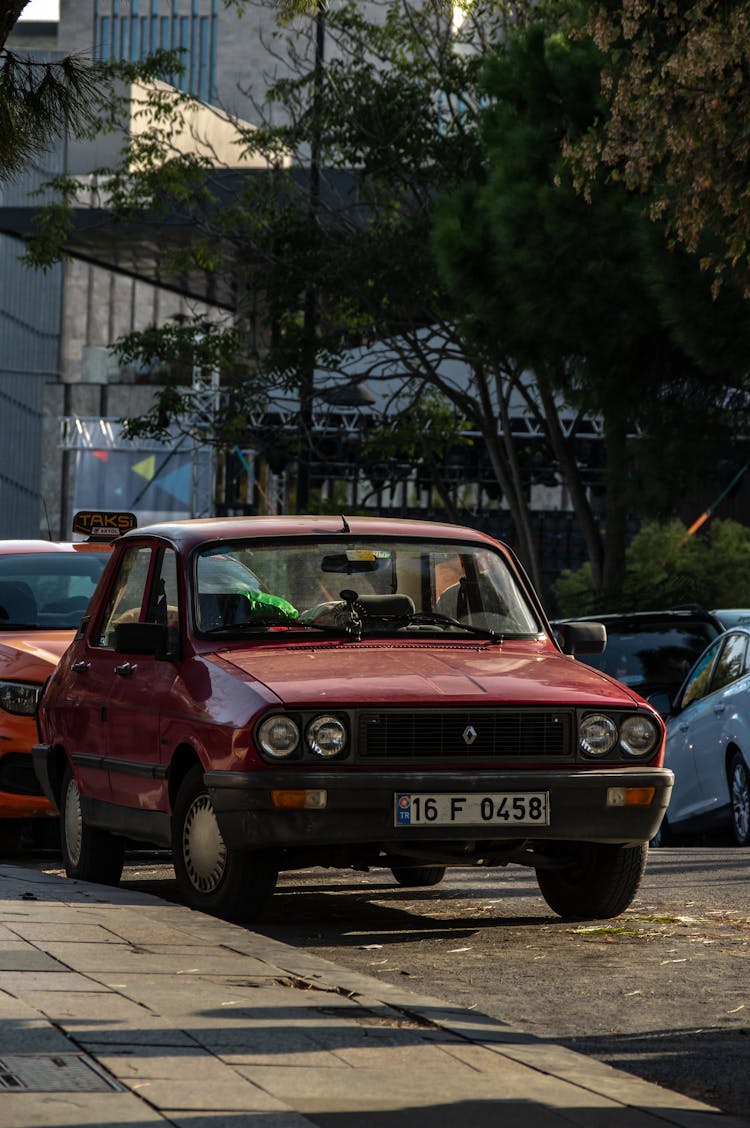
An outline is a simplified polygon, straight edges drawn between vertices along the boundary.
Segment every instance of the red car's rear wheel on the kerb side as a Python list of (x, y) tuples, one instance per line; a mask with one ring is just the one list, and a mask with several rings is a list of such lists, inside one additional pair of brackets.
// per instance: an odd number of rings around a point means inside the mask
[(125, 839), (83, 821), (81, 796), (70, 765), (60, 794), (60, 848), (69, 878), (116, 885), (122, 876)]

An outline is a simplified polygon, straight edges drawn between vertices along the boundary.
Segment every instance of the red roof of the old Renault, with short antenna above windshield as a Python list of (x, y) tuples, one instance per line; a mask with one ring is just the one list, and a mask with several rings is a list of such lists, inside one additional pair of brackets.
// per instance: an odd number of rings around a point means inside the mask
[[(404, 537), (435, 540), (467, 540), (496, 547), (497, 541), (476, 529), (436, 521), (409, 521), (388, 517), (213, 517), (165, 521), (126, 532), (121, 540), (160, 537), (176, 547), (189, 549), (204, 541), (242, 540), (254, 537)], [(503, 546), (504, 547), (504, 546)]]

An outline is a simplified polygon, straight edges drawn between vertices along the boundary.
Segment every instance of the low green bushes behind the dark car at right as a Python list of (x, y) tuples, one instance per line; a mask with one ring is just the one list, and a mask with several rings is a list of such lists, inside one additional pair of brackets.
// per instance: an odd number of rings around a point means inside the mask
[(588, 564), (563, 572), (555, 597), (564, 616), (680, 603), (748, 607), (750, 529), (736, 521), (712, 520), (689, 537), (681, 521), (646, 522), (628, 546), (623, 588), (609, 603), (595, 601)]

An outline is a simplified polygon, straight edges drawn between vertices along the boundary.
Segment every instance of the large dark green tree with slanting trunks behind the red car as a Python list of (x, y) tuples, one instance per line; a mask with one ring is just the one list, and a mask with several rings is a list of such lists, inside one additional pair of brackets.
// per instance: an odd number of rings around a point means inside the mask
[[(272, 389), (289, 398), (312, 369), (324, 394), (353, 380), (400, 381), (404, 405), (436, 394), (480, 437), (538, 583), (532, 460), (513, 435), (522, 400), (574, 500), (598, 590), (616, 585), (629, 435), (644, 423), (661, 433), (668, 409), (703, 384), (646, 291), (638, 209), (621, 186), (591, 203), (573, 191), (561, 146), (606, 112), (599, 61), (544, 15), (477, 0), (457, 30), (443, 0), (388, 0), (374, 18), (351, 0), (328, 14), (323, 67), (318, 27), (297, 17), (280, 30), (297, 69), (271, 89), (275, 124), (244, 131), (246, 152), (267, 161), (253, 173), (177, 153), (184, 103), (152, 95), (150, 127), (102, 170), (113, 222), (184, 218), (192, 238), (175, 261), (231, 271), (237, 309), (227, 326), (155, 327), (121, 349), (182, 356), (183, 371), (215, 361), (236, 378), (213, 418), (196, 423), (189, 391), (173, 386), (134, 428), (159, 433), (183, 415), (218, 443), (263, 437)], [(76, 185), (65, 191), (72, 199)], [(37, 261), (61, 240), (64, 223), (43, 229)], [(606, 539), (564, 402), (605, 421)], [(298, 458), (312, 441), (303, 412), (300, 424)]]

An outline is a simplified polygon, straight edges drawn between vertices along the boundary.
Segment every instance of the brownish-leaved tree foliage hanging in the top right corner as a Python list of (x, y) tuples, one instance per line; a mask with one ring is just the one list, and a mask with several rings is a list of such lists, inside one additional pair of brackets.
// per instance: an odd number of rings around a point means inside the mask
[(605, 0), (588, 29), (610, 109), (572, 147), (580, 183), (603, 166), (717, 283), (750, 294), (750, 3)]

